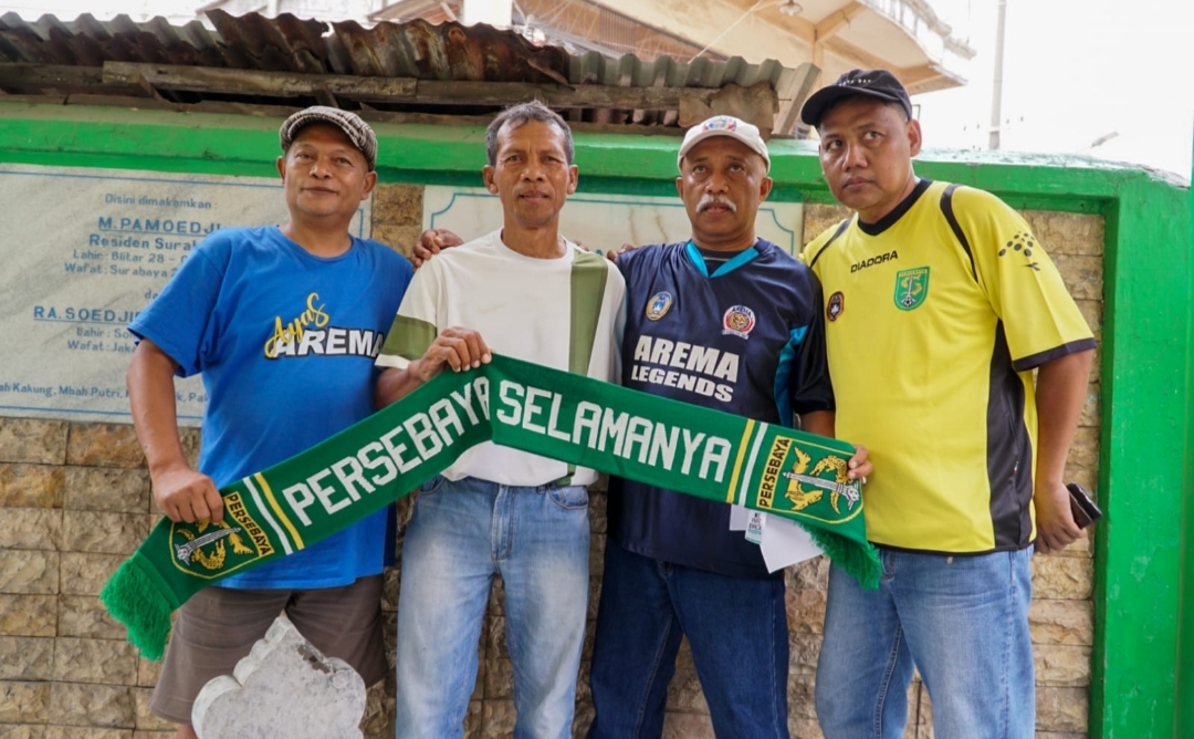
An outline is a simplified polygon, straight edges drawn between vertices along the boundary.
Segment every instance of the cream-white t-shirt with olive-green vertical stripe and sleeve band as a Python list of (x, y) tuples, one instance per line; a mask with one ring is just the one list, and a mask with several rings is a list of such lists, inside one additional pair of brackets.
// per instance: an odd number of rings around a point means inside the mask
[[(416, 272), (377, 365), (405, 368), (441, 331), (461, 327), (479, 332), (494, 352), (617, 382), (624, 322), (626, 283), (613, 263), (571, 241), (558, 259), (525, 257), (497, 230), (441, 252)], [(587, 367), (570, 367), (585, 356)], [(597, 479), (592, 469), (492, 442), (469, 449), (443, 474), (513, 486)]]

